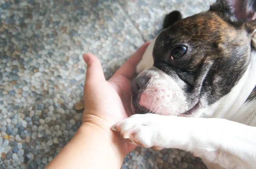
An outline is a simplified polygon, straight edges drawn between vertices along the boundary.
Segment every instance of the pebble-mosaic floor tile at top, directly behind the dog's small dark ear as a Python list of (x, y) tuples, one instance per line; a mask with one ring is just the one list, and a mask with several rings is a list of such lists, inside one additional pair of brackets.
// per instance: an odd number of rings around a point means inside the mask
[(162, 30), (163, 19), (172, 11), (183, 18), (207, 11), (216, 0), (119, 0), (145, 40), (153, 39)]

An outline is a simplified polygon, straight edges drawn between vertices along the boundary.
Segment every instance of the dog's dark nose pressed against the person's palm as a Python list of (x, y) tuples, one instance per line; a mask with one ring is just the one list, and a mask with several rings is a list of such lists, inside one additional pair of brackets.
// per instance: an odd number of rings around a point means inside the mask
[(140, 76), (134, 79), (131, 84), (131, 91), (134, 99), (137, 98), (140, 89), (148, 83), (149, 79), (150, 77), (148, 76)]

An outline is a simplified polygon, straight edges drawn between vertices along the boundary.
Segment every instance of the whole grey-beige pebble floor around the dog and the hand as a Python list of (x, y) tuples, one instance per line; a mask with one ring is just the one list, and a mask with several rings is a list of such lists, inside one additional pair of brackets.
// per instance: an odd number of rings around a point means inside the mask
[[(165, 14), (214, 0), (0, 0), (0, 169), (43, 169), (81, 124), (84, 52), (106, 78), (162, 28)], [(86, 165), (86, 164), (85, 164)], [(137, 147), (122, 169), (204, 169), (177, 149)]]

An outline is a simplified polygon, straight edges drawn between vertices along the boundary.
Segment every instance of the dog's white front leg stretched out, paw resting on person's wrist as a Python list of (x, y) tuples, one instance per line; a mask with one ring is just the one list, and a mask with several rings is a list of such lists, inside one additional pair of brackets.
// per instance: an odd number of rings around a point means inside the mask
[(192, 152), (224, 168), (256, 166), (256, 128), (220, 118), (132, 115), (112, 127), (134, 144)]

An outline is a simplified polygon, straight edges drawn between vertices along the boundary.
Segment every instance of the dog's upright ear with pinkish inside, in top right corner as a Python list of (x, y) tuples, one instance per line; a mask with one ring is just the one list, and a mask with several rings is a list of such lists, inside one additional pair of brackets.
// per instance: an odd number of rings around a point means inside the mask
[(231, 22), (256, 21), (256, 0), (217, 0), (210, 7)]

